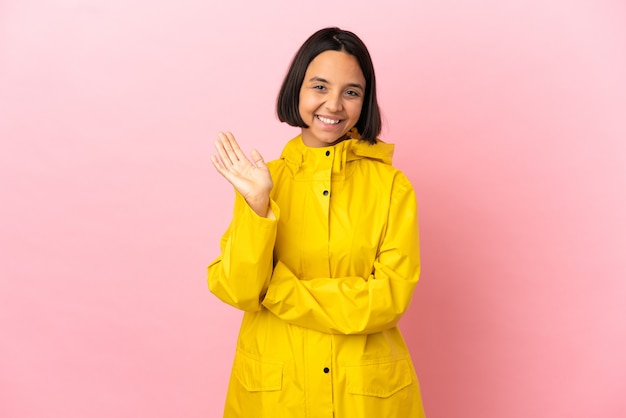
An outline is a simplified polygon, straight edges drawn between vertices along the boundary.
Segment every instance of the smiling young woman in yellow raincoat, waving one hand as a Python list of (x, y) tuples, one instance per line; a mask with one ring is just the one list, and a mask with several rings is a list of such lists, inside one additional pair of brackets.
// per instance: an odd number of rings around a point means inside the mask
[(415, 195), (377, 139), (363, 42), (313, 34), (277, 111), (301, 128), (280, 159), (247, 158), (231, 133), (212, 156), (236, 197), (209, 288), (245, 311), (224, 416), (423, 417), (397, 328), (420, 272)]

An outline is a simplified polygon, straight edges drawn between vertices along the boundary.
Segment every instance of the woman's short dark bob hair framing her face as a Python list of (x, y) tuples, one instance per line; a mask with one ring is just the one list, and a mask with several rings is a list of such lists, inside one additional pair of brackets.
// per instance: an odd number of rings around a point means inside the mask
[(276, 113), (281, 122), (291, 126), (308, 128), (300, 116), (300, 88), (304, 81), (304, 74), (309, 64), (315, 57), (324, 51), (342, 51), (353, 55), (361, 67), (365, 77), (365, 95), (361, 115), (356, 123), (356, 128), (361, 139), (370, 144), (376, 143), (376, 137), (380, 134), (382, 122), (380, 109), (376, 100), (376, 77), (374, 65), (367, 47), (352, 32), (339, 28), (325, 28), (315, 32), (307, 39), (291, 62), (289, 71), (283, 80), (276, 102)]

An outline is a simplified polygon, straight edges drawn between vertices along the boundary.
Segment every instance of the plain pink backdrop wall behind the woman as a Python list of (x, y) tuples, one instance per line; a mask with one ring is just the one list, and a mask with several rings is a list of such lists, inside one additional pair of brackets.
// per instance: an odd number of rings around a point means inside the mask
[(626, 416), (626, 6), (0, 3), (0, 416), (218, 417), (241, 313), (207, 290), (220, 130), (278, 156), (289, 60), (370, 47), (423, 275), (429, 418)]

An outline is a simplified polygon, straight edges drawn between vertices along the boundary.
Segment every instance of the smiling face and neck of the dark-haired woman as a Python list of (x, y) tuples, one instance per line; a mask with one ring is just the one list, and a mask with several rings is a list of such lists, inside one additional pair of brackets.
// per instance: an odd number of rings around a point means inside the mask
[(365, 77), (357, 59), (324, 51), (311, 61), (300, 87), (302, 141), (309, 147), (339, 142), (356, 125), (363, 107)]

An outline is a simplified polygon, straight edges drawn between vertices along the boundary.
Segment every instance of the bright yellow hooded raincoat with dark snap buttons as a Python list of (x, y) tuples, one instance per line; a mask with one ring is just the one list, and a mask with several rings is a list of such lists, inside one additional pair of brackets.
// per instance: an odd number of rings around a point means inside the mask
[(245, 311), (224, 417), (424, 416), (396, 327), (420, 272), (416, 201), (392, 155), (297, 136), (268, 164), (268, 218), (236, 195), (208, 269), (210, 290)]

